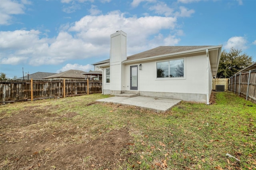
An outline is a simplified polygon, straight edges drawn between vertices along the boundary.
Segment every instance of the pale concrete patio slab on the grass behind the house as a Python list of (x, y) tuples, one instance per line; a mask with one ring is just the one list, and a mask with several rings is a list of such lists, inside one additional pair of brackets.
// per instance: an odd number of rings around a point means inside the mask
[(105, 99), (99, 99), (96, 101), (115, 103), (121, 105), (132, 105), (143, 109), (149, 109), (157, 113), (164, 113), (171, 109), (174, 105), (180, 103), (180, 99), (167, 99), (158, 97), (109, 97)]

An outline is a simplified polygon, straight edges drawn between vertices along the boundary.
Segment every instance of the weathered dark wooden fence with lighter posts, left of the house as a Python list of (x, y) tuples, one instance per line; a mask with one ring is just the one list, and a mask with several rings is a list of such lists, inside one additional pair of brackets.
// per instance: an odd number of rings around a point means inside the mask
[(102, 82), (88, 79), (0, 81), (0, 103), (88, 95), (101, 92)]

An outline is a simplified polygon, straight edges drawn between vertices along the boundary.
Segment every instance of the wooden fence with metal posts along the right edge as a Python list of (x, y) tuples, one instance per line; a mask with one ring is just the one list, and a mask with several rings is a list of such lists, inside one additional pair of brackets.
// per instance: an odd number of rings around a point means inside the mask
[(256, 103), (256, 70), (230, 77), (230, 91)]

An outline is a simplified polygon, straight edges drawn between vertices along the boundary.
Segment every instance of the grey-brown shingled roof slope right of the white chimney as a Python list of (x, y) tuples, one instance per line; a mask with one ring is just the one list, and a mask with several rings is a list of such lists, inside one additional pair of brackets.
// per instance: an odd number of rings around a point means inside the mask
[(192, 49), (200, 49), (204, 47), (209, 47), (210, 45), (202, 45), (202, 46), (159, 46), (148, 51), (144, 51), (138, 54), (130, 55), (127, 57), (126, 61), (133, 59), (142, 59), (146, 57), (153, 57), (158, 55), (177, 53), (182, 51), (188, 51)]

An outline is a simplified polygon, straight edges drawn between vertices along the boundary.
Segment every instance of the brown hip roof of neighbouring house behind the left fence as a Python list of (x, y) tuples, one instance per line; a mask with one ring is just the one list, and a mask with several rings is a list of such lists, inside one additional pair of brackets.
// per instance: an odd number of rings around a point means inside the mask
[(54, 79), (54, 78), (69, 78), (69, 79), (84, 79), (84, 75), (82, 73), (86, 73), (81, 70), (68, 70), (55, 75), (51, 75), (48, 77), (44, 77), (44, 79)]

